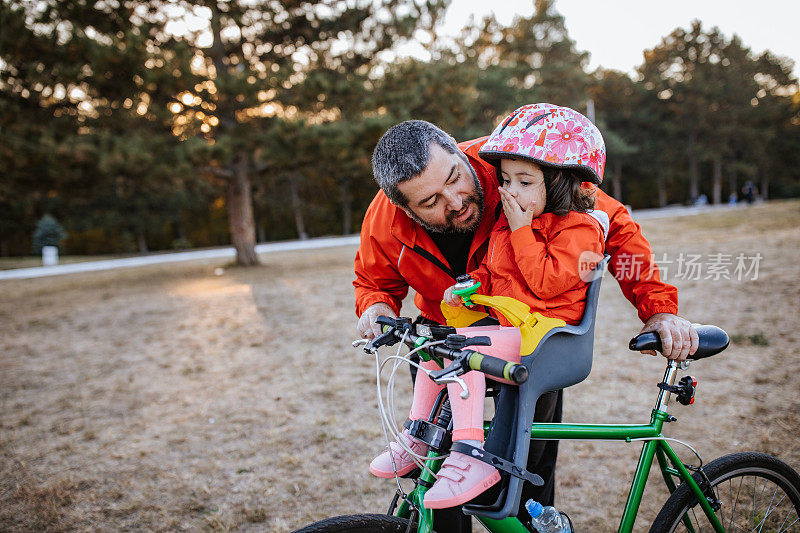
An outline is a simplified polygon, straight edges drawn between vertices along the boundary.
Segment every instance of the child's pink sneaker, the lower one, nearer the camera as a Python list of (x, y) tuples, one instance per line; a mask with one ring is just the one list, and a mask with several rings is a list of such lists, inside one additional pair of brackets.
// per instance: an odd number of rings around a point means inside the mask
[(422, 502), (426, 509), (461, 505), (500, 481), (495, 467), (459, 452), (450, 452), (437, 475)]

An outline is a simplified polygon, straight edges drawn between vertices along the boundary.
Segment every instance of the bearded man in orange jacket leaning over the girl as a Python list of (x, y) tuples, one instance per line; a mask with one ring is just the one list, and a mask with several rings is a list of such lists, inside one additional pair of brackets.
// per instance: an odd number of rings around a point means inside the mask
[[(485, 140), (456, 145), (433, 124), (413, 120), (392, 127), (378, 142), (372, 168), (381, 190), (364, 217), (353, 282), (363, 337), (380, 332), (378, 316), (398, 315), (409, 287), (416, 291), (417, 320), (443, 323), (439, 303), (445, 289), (480, 265), (501, 211), (495, 168), (477, 156)], [(645, 322), (642, 331), (658, 332), (665, 357), (685, 359), (698, 340), (691, 324), (677, 316), (677, 290), (661, 282), (650, 244), (625, 206), (596, 193), (595, 208), (610, 219), (609, 269)], [(536, 420), (561, 420), (560, 391), (540, 398)], [(528, 469), (541, 475), (545, 486), (526, 486), (522, 502), (533, 497), (550, 505), (558, 443), (537, 444)], [(437, 531), (442, 530), (437, 519)]]

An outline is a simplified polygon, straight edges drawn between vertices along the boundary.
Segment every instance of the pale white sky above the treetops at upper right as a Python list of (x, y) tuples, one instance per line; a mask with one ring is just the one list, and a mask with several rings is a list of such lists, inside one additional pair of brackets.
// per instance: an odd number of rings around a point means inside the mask
[[(800, 76), (800, 0), (556, 0), (555, 8), (576, 48), (591, 54), (590, 70), (603, 66), (633, 73), (645, 49), (699, 19), (726, 37), (739, 35), (756, 54), (768, 49), (789, 57)], [(470, 15), (480, 20), (491, 12), (508, 25), (515, 15), (530, 16), (533, 0), (452, 0), (441, 31), (455, 35)]]

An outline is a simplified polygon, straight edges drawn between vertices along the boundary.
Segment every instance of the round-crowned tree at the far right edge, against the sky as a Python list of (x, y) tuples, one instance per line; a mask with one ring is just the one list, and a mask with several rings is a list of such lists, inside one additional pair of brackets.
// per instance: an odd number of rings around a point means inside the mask
[(690, 199), (701, 192), (702, 163), (711, 165), (707, 190), (715, 202), (721, 201), (726, 166), (768, 175), (775, 124), (787, 116), (788, 95), (797, 87), (790, 65), (770, 54), (754, 57), (737, 36), (728, 39), (694, 21), (645, 51), (639, 73), (680, 129), (676, 141), (687, 154)]

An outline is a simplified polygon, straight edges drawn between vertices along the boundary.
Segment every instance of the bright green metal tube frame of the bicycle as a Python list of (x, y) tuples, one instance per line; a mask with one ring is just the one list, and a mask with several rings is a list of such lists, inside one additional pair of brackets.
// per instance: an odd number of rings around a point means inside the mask
[[(665, 382), (670, 384), (674, 382), (677, 368), (677, 364), (669, 364), (664, 376)], [(664, 390), (659, 393), (656, 408), (653, 409), (650, 416), (650, 423), (646, 425), (534, 423), (531, 428), (531, 438), (538, 440), (619, 440), (625, 442), (643, 440), (644, 445), (642, 446), (642, 452), (639, 456), (639, 462), (636, 466), (636, 472), (633, 476), (631, 488), (628, 493), (628, 500), (625, 503), (625, 509), (618, 531), (620, 533), (630, 533), (633, 531), (633, 525), (636, 521), (639, 505), (642, 501), (644, 488), (647, 484), (647, 477), (653, 465), (653, 459), (656, 458), (661, 469), (661, 475), (664, 478), (669, 492), (674, 492), (677, 486), (673, 478), (677, 477), (686, 483), (697, 497), (700, 507), (703, 509), (703, 512), (714, 530), (724, 532), (725, 529), (722, 523), (711, 508), (711, 504), (706, 499), (700, 486), (695, 482), (689, 470), (684, 466), (678, 455), (669, 446), (667, 441), (664, 440), (661, 434), (664, 422), (671, 419), (670, 415), (664, 410), (669, 399), (669, 394), (669, 392)], [(488, 429), (489, 424), (487, 423), (484, 427), (484, 431), (488, 431)], [(433, 452), (429, 453), (430, 457), (435, 457), (435, 455), (436, 454)], [(441, 466), (441, 460), (428, 460), (426, 464), (428, 468), (435, 473)], [(422, 500), (428, 487), (436, 480), (434, 476), (426, 470), (423, 470), (419, 480), (420, 483), (418, 483), (414, 490), (408, 495), (408, 500), (412, 502), (414, 509), (420, 511), (417, 531), (419, 533), (430, 533), (433, 527), (433, 512), (423, 507)], [(397, 516), (409, 518), (411, 514), (411, 504), (409, 504), (408, 501), (404, 501), (398, 509)], [(522, 522), (513, 516), (503, 520), (492, 520), (482, 516), (476, 516), (476, 518), (493, 533), (529, 533), (529, 530)], [(690, 532), (694, 531), (692, 524), (687, 518), (684, 518), (684, 523)]]

